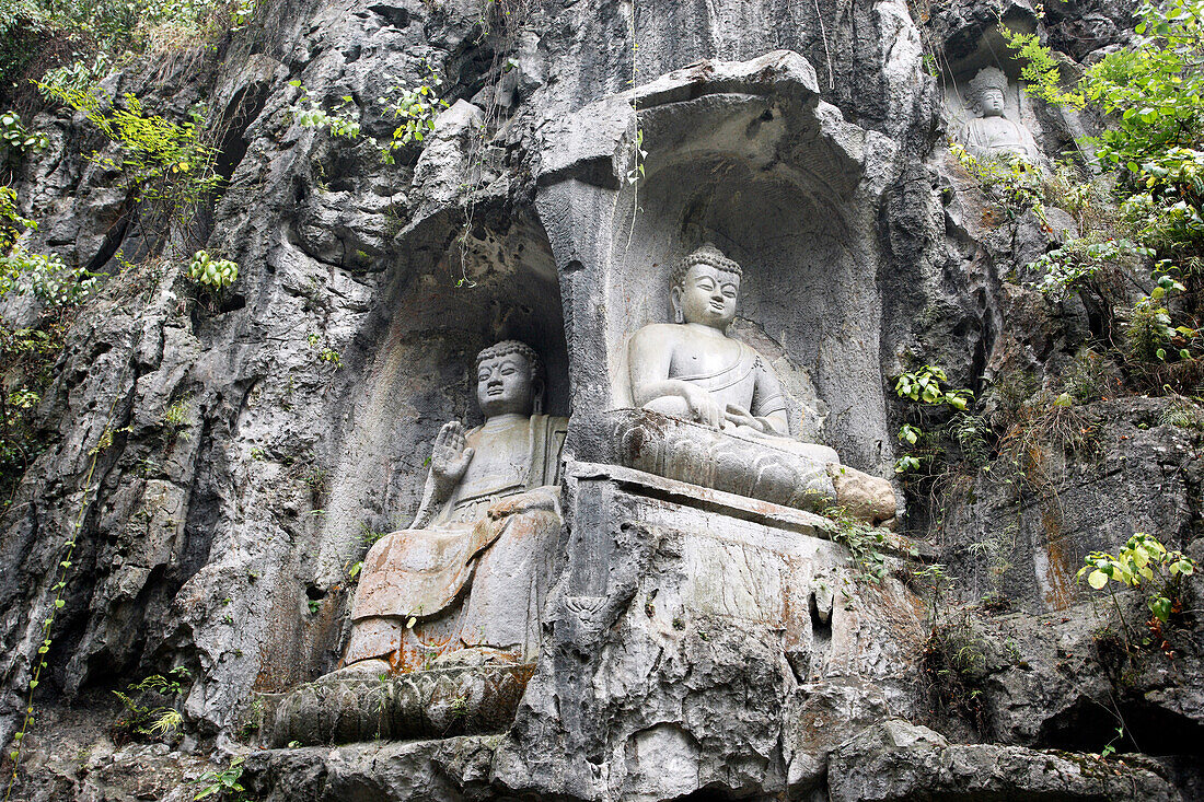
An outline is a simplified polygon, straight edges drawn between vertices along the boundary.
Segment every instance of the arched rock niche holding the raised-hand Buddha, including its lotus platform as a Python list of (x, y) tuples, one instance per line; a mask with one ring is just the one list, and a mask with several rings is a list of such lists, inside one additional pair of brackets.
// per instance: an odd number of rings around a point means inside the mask
[[(267, 745), (504, 730), (535, 671), (560, 537), (563, 318), (538, 223), (479, 219), (494, 225), (476, 228), (464, 250), (454, 222), (433, 219), (414, 234), (413, 261), (382, 305), (386, 323), (365, 332), (380, 344), (344, 424), (312, 585), (341, 594), (354, 619), (349, 639), (346, 624), (327, 630), (313, 653), (347, 665), (314, 661), (317, 680), (261, 696)], [(478, 352), (498, 341), (525, 344), (502, 343), (478, 364)], [(483, 415), (480, 371), (515, 358), (531, 364), (526, 346), (542, 362), (531, 406)], [(450, 495), (427, 503), (432, 442), (449, 421), (462, 426), (459, 446), (478, 450)], [(390, 532), (367, 556), (365, 529)], [(356, 595), (358, 585), (372, 590)]]

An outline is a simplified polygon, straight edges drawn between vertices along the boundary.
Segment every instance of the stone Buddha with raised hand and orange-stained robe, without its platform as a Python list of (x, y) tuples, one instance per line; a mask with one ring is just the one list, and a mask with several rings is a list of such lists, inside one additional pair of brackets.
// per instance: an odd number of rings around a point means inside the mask
[(535, 657), (568, 423), (538, 413), (539, 372), (518, 341), (477, 355), (485, 423), (443, 425), (413, 524), (364, 559), (341, 673)]

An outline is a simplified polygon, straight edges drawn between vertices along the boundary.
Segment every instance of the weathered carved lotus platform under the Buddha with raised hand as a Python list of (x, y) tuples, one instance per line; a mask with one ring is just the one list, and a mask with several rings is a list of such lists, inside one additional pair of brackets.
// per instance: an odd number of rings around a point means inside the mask
[(279, 748), (500, 732), (514, 720), (533, 664), (327, 677), (262, 694), (260, 739)]

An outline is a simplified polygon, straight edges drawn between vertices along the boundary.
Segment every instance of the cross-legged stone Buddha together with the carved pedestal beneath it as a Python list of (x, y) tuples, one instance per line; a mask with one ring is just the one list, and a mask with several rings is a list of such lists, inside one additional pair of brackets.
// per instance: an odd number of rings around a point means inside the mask
[(842, 465), (827, 446), (792, 437), (778, 376), (754, 348), (730, 336), (740, 275), (716, 247), (700, 247), (673, 273), (674, 322), (632, 336), (627, 370), (635, 405), (687, 425), (624, 419), (616, 434), (625, 461), (793, 507), (836, 503), (873, 524), (893, 525), (890, 482)]

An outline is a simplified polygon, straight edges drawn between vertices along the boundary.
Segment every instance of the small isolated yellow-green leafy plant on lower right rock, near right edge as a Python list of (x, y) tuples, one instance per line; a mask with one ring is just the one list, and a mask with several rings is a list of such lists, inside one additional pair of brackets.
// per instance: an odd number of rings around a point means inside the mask
[[(1184, 556), (1182, 552), (1168, 550), (1158, 538), (1145, 532), (1128, 538), (1115, 555), (1092, 552), (1085, 560), (1086, 565), (1075, 574), (1078, 579), (1086, 576), (1087, 584), (1096, 590), (1110, 588), (1110, 582), (1127, 588), (1146, 588), (1150, 613), (1163, 624), (1182, 603), (1182, 578), (1196, 572), (1194, 560)], [(1112, 598), (1115, 601), (1115, 595)], [(1123, 617), (1121, 620), (1123, 623)]]

